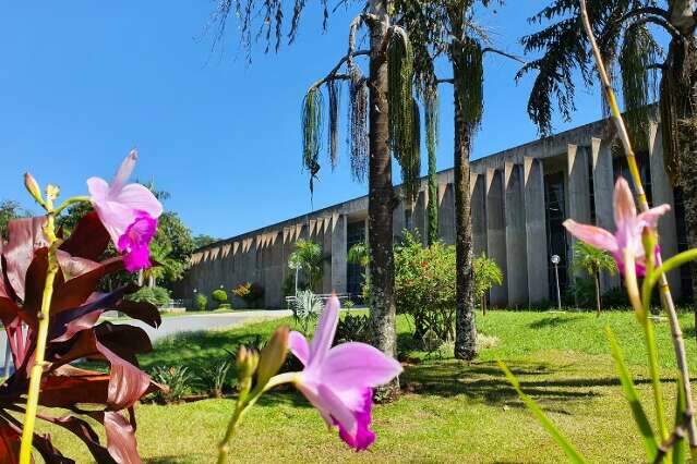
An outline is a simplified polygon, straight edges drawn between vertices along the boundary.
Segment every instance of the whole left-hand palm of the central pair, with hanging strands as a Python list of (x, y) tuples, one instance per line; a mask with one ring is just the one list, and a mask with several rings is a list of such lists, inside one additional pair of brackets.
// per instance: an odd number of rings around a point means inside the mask
[[(292, 4), (289, 41), (297, 36), (300, 16), (307, 5), (305, 0), (224, 0), (214, 14), (218, 34), (215, 41), (223, 39), (227, 20), (236, 16), (242, 46), (251, 57), (252, 36), (265, 38), (267, 50), (272, 45), (276, 50), (285, 37), (283, 30), (284, 7)], [(316, 2), (324, 10), (324, 22), (329, 15), (328, 2)], [(343, 3), (350, 3), (348, 0)], [(349, 83), (349, 127), (350, 154), (353, 175), (364, 179), (368, 173), (368, 218), (371, 252), (371, 328), (373, 344), (388, 356), (396, 354), (396, 308), (394, 301), (393, 262), (393, 210), (397, 198), (392, 182), (392, 156), (402, 168), (405, 193), (412, 197), (418, 185), (418, 148), (413, 131), (418, 111), (414, 111), (411, 96), (410, 46), (406, 32), (390, 25), (388, 0), (366, 0), (361, 13), (349, 27), (348, 53), (326, 77), (313, 84), (303, 100), (303, 166), (310, 173), (310, 187), (320, 172), (319, 154), (322, 132), (321, 87), (326, 88), (328, 98), (328, 150), (336, 163), (338, 87), (340, 82)], [(261, 21), (259, 26), (256, 21)], [(356, 34), (364, 28), (370, 37), (366, 50), (356, 49)], [(275, 44), (273, 44), (275, 42)], [(356, 61), (369, 57), (368, 75), (363, 76)], [(345, 73), (339, 71), (345, 68)], [(369, 156), (370, 154), (370, 156)], [(398, 383), (395, 382), (394, 387)], [(396, 389), (395, 389), (396, 392)]]

